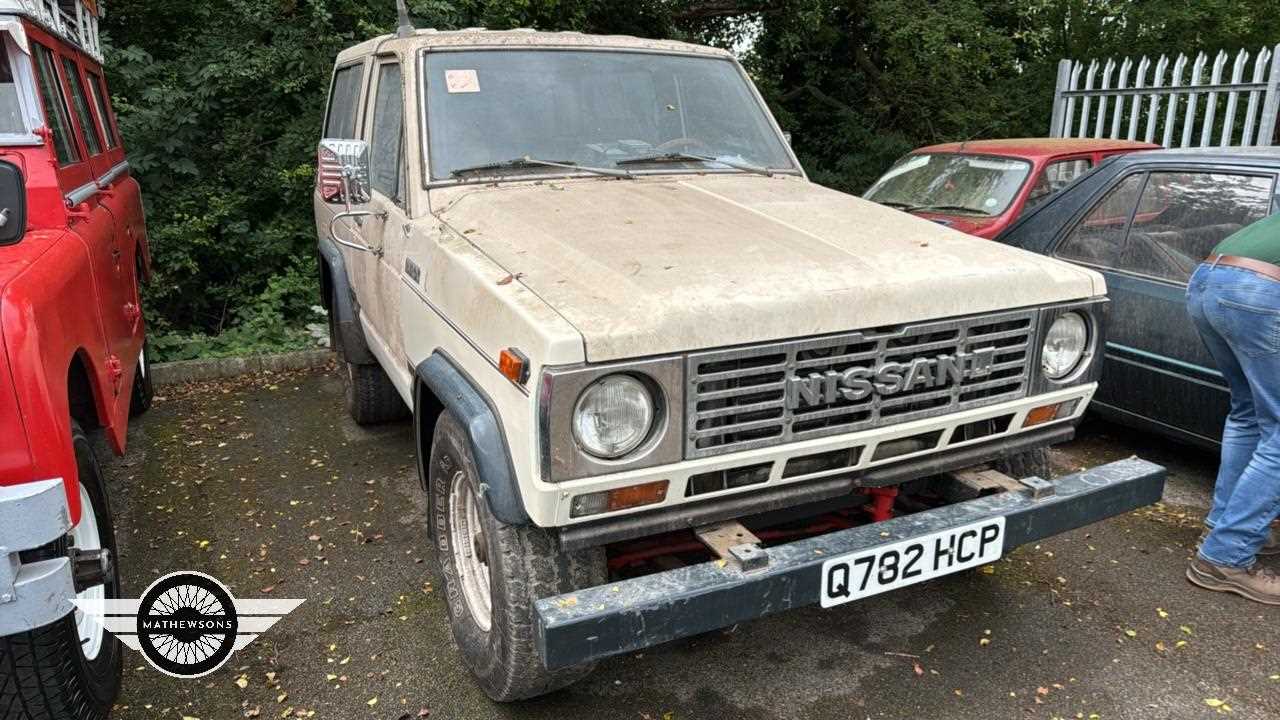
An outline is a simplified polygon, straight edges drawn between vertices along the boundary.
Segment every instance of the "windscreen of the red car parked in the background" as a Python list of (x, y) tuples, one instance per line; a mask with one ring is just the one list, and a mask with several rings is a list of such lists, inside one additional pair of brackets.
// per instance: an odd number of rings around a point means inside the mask
[(868, 200), (905, 210), (1000, 215), (1032, 164), (991, 155), (908, 155), (867, 191)]

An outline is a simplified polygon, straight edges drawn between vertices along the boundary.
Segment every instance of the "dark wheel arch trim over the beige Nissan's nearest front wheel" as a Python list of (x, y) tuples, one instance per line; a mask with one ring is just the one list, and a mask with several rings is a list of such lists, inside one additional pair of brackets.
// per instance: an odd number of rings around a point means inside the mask
[[(443, 410), (452, 413), (462, 423), (471, 455), (480, 473), (481, 496), (494, 518), (508, 525), (529, 525), (531, 520), (525, 511), (520, 495), (520, 483), (511, 462), (511, 447), (502, 429), (498, 409), (470, 375), (462, 370), (444, 351), (436, 350), (422, 360), (415, 374), (421, 386), (430, 391)], [(417, 405), (419, 393), (415, 393)], [(413, 409), (415, 424), (420, 423), (419, 407)], [(430, 441), (429, 437), (424, 438)], [(426, 480), (426, 446), (419, 451), (420, 471)]]

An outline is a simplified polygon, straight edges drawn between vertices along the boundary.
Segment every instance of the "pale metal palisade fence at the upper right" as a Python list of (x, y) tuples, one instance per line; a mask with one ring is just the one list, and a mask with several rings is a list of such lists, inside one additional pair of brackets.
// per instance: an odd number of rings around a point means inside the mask
[[(1251, 61), (1252, 60), (1252, 61)], [(1117, 72), (1119, 70), (1119, 72)], [(1188, 74), (1189, 73), (1189, 74)], [(1062, 60), (1052, 137), (1110, 137), (1165, 147), (1277, 145), (1280, 45), (1194, 60), (1161, 55)]]

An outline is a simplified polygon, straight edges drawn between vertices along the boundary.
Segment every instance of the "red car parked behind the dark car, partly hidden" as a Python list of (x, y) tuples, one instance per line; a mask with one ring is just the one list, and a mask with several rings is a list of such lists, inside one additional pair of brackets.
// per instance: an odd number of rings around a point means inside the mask
[(1157, 149), (1151, 142), (1075, 137), (931, 145), (895, 163), (863, 197), (993, 238), (1105, 158)]

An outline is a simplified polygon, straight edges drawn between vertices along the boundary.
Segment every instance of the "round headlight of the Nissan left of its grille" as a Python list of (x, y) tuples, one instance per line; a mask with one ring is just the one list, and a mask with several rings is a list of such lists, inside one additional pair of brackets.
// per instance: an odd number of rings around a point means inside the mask
[(653, 427), (653, 396), (631, 375), (591, 383), (573, 407), (573, 437), (596, 457), (622, 457), (640, 446)]

